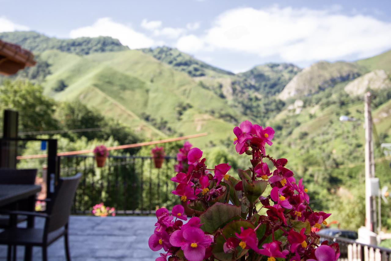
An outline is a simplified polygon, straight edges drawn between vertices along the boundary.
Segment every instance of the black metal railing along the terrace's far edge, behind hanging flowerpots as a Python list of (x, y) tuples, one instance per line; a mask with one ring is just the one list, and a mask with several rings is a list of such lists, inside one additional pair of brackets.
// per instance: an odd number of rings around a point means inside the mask
[(171, 193), (174, 164), (176, 158), (165, 157), (157, 169), (151, 157), (109, 156), (104, 167), (97, 167), (93, 156), (61, 156), (60, 175), (83, 175), (73, 214), (91, 213), (100, 202), (115, 207), (116, 214), (152, 214), (158, 207), (170, 208), (179, 202)]

